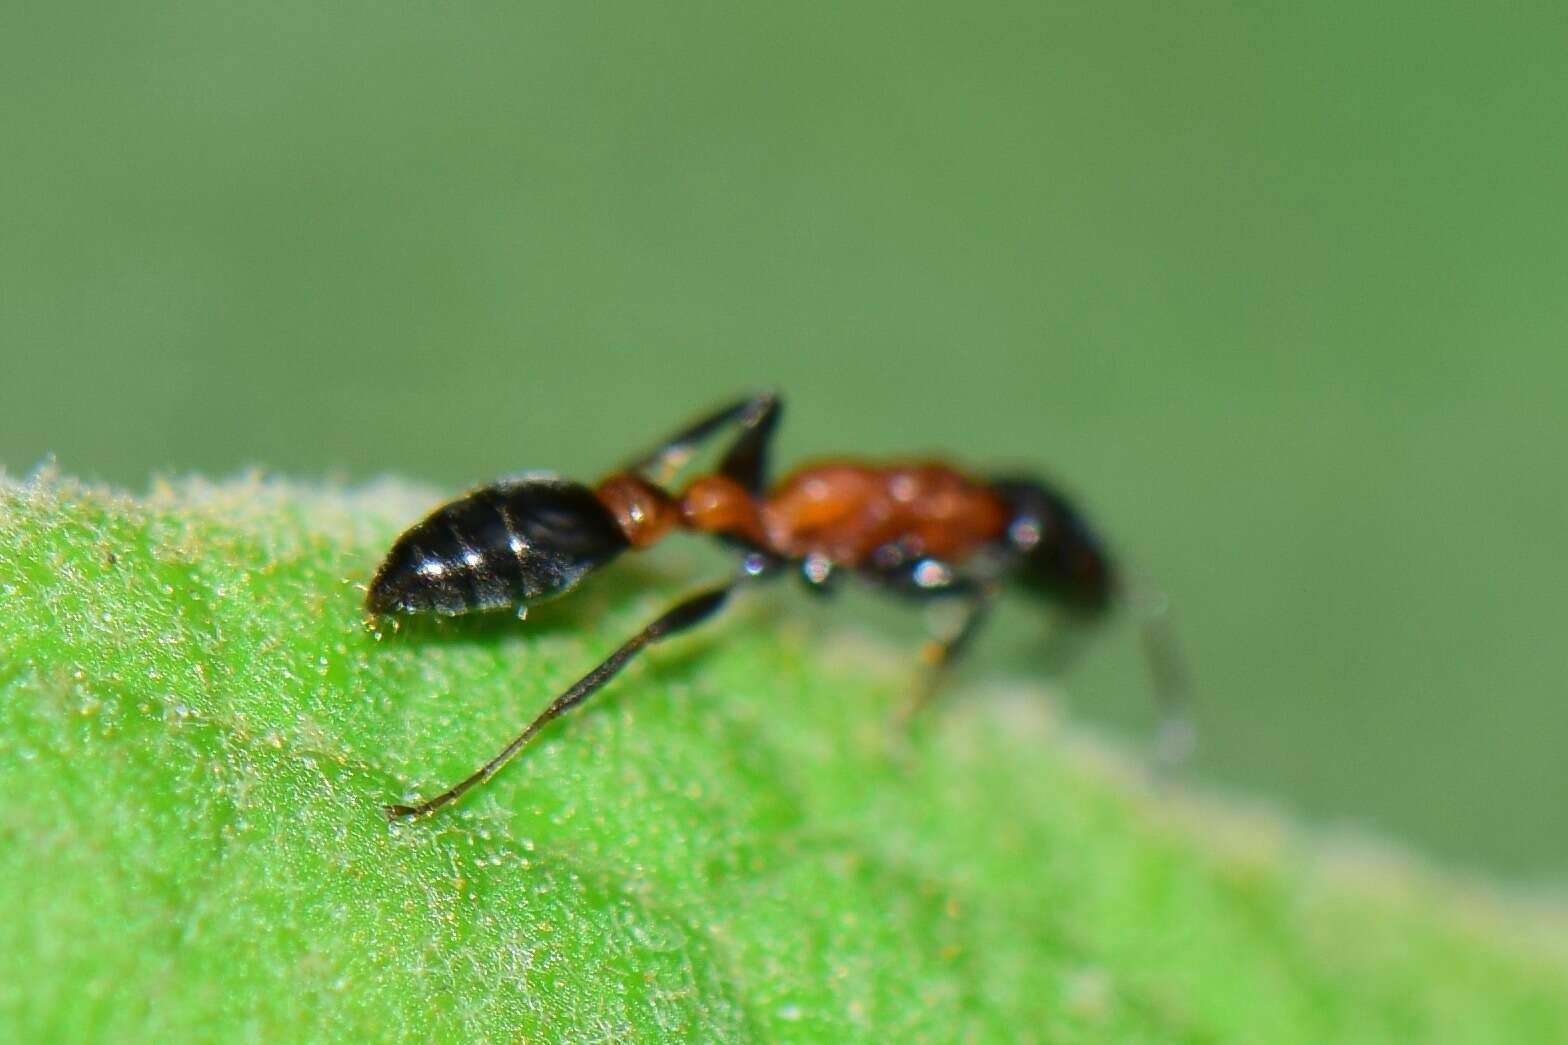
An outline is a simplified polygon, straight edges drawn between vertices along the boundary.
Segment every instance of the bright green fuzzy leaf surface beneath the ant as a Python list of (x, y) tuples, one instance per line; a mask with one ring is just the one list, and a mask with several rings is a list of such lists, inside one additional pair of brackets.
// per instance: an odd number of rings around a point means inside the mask
[(906, 739), (903, 662), (767, 593), (392, 824), (679, 590), (378, 635), (430, 501), (3, 490), (0, 1036), (1568, 1040), (1554, 908), (1157, 794), (1035, 692)]

